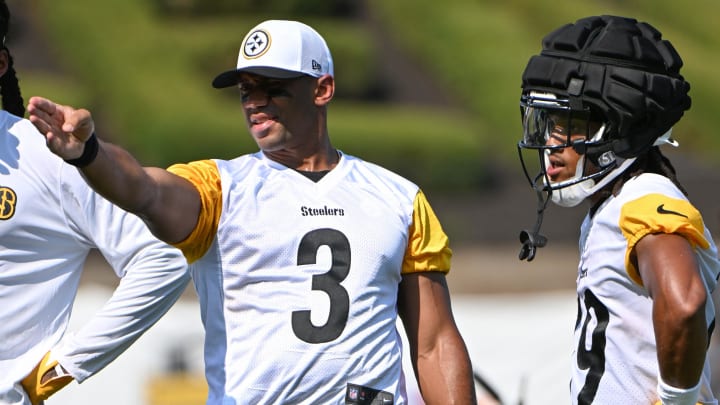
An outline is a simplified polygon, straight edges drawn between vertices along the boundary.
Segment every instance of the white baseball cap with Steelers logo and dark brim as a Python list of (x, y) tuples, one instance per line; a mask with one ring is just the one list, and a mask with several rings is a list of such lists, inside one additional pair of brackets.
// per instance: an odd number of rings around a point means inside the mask
[(217, 75), (213, 87), (236, 85), (240, 72), (277, 79), (334, 75), (323, 37), (308, 25), (286, 20), (264, 21), (251, 29), (240, 47), (237, 68)]

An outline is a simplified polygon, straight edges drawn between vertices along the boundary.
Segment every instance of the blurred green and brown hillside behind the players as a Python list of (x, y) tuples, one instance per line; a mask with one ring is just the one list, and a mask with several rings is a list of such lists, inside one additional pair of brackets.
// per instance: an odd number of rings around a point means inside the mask
[[(671, 40), (685, 61), (682, 72), (693, 98), (675, 135), (693, 159), (714, 164), (720, 153), (716, 0), (8, 0), (8, 5), (18, 18), (7, 43), (25, 97), (43, 95), (89, 108), (98, 133), (145, 164), (233, 158), (257, 149), (236, 91), (215, 90), (210, 81), (235, 65), (245, 33), (269, 18), (302, 20), (327, 40), (338, 86), (329, 116), (335, 146), (414, 180), (431, 202), (466, 201), (463, 207), (472, 207), (485, 198), (478, 196), (497, 195), (508, 182), (524, 181), (515, 146), (522, 71), (545, 34), (588, 15), (632, 16)], [(18, 49), (16, 43), (29, 45)], [(528, 213), (523, 220), (534, 221), (534, 195), (526, 185), (523, 190), (527, 200), (519, 206)], [(456, 206), (439, 205), (441, 219), (450, 218), (448, 226), (468, 228), (466, 218), (451, 218)], [(515, 238), (516, 231), (508, 232)], [(472, 234), (456, 232), (460, 238)]]

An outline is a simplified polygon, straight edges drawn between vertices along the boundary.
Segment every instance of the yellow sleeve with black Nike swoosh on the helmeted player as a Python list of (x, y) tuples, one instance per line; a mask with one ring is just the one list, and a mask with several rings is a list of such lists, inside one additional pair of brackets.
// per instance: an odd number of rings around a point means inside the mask
[(705, 239), (705, 225), (700, 212), (688, 201), (662, 194), (648, 194), (623, 205), (620, 229), (628, 241), (625, 268), (636, 283), (642, 280), (630, 257), (637, 242), (651, 233), (676, 233), (695, 247), (710, 246)]

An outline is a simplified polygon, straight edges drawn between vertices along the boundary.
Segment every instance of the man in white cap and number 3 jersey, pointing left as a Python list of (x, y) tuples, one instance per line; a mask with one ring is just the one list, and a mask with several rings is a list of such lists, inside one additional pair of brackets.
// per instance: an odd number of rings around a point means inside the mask
[(425, 402), (474, 403), (448, 238), (418, 186), (332, 146), (323, 38), (265, 21), (213, 86), (239, 88), (260, 151), (142, 167), (87, 110), (28, 107), (54, 153), (191, 263), (208, 403), (407, 403), (398, 315)]

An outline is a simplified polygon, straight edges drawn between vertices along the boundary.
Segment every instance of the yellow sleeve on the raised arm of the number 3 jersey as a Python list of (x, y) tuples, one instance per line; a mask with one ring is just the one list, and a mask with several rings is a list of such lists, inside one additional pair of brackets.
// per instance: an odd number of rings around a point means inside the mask
[(212, 160), (175, 164), (168, 171), (188, 179), (200, 193), (200, 215), (192, 233), (173, 246), (180, 249), (188, 263), (201, 258), (215, 239), (222, 213), (222, 185), (217, 165)]

